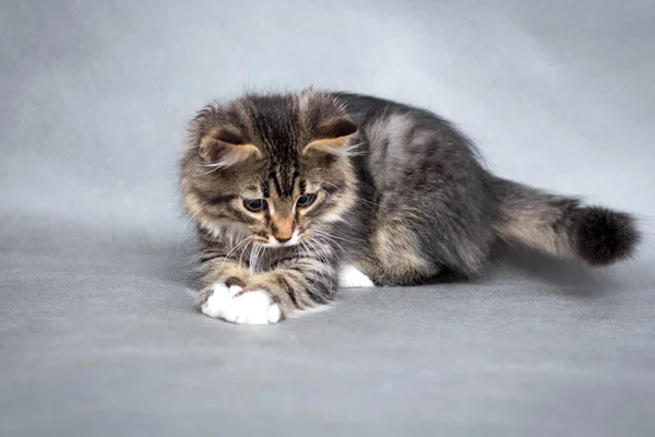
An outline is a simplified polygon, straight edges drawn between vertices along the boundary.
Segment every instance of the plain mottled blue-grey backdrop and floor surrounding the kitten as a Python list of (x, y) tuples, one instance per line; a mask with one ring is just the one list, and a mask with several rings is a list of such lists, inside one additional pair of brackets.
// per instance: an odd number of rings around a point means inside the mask
[[(0, 5), (0, 435), (654, 435), (651, 0)], [(274, 327), (198, 315), (183, 123), (309, 84), (428, 107), (497, 173), (634, 211), (640, 256), (512, 252)]]

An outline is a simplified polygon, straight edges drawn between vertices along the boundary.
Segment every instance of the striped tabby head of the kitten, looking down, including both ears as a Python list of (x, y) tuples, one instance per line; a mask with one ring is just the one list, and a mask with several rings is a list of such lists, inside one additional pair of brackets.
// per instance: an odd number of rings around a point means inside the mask
[(215, 236), (296, 245), (350, 208), (356, 132), (334, 97), (313, 91), (207, 106), (190, 123), (184, 209)]

